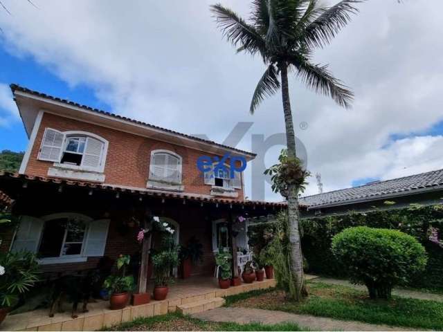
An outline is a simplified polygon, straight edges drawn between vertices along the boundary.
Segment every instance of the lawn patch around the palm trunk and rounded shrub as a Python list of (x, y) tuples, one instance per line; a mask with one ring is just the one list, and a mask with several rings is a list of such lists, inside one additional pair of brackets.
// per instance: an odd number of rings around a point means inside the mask
[(389, 301), (372, 300), (354, 288), (309, 283), (309, 297), (291, 302), (278, 289), (253, 291), (226, 297), (227, 306), (304, 313), (337, 320), (370, 324), (388, 324), (419, 329), (443, 330), (443, 303), (422, 299), (392, 297)]

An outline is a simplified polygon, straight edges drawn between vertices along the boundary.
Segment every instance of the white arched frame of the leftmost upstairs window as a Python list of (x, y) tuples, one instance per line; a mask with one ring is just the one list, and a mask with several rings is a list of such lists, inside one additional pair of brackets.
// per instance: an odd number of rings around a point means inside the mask
[[(109, 142), (107, 140), (105, 140), (105, 138), (102, 138), (101, 136), (98, 136), (95, 133), (91, 133), (89, 131), (62, 131), (62, 133), (64, 134), (63, 145), (62, 145), (62, 152), (60, 154), (60, 161), (54, 163), (55, 167), (64, 168), (64, 169), (75, 169), (75, 170), (80, 170), (80, 171), (85, 171), (85, 172), (98, 172), (98, 173), (105, 172), (105, 165), (106, 165), (106, 160), (107, 160), (107, 151), (108, 151), (108, 146), (109, 146)], [(62, 163), (63, 154), (65, 152), (68, 152), (68, 153), (71, 153), (71, 154), (80, 154), (78, 152), (76, 153), (76, 152), (72, 152), (72, 151), (66, 151), (67, 139), (68, 138), (79, 138), (79, 137), (84, 137), (85, 138), (84, 149), (83, 149), (83, 152), (81, 154), (82, 155), (82, 161), (83, 161), (84, 154), (85, 154), (85, 151), (86, 151), (87, 138), (88, 137), (94, 138), (94, 139), (99, 140), (100, 142), (103, 143), (102, 154), (100, 155), (100, 167), (97, 167), (96, 169), (93, 169), (92, 167), (84, 167), (84, 166), (81, 165), (81, 163), (80, 163), (80, 165), (70, 165), (70, 164)]]

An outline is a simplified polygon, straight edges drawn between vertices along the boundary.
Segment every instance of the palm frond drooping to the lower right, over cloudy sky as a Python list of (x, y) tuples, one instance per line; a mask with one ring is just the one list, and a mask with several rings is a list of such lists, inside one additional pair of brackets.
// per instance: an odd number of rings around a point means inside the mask
[(331, 97), (341, 107), (351, 107), (354, 93), (332, 75), (327, 65), (311, 64), (305, 57), (296, 55), (291, 58), (290, 63), (296, 67), (296, 75), (309, 89)]

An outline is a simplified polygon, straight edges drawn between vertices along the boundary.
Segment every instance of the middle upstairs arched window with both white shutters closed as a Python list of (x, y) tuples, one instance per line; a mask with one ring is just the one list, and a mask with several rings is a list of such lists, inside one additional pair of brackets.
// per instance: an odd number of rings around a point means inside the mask
[(181, 188), (181, 156), (168, 150), (151, 152), (148, 186), (163, 189)]

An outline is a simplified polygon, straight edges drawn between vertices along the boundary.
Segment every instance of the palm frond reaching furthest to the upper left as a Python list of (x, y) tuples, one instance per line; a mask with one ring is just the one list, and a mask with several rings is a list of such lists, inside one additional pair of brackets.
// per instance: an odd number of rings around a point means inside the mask
[(241, 50), (247, 50), (251, 54), (260, 52), (262, 57), (266, 56), (264, 39), (255, 30), (254, 26), (246, 23), (233, 10), (216, 5), (210, 6), (219, 28), (228, 42), (233, 46), (240, 46)]

